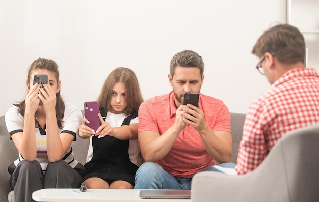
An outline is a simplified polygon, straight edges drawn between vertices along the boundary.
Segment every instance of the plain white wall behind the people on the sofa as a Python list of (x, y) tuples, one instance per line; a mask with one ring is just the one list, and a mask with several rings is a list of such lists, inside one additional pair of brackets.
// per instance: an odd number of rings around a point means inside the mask
[(270, 86), (250, 52), (276, 22), (285, 22), (285, 0), (0, 0), (0, 115), (25, 97), (38, 57), (58, 63), (62, 95), (82, 109), (120, 66), (135, 71), (144, 99), (168, 93), (170, 60), (184, 49), (203, 57), (202, 93), (246, 113)]

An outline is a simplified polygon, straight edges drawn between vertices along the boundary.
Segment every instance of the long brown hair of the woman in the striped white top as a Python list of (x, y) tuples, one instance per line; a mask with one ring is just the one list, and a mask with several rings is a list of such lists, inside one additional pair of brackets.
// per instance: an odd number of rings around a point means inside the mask
[[(59, 82), (59, 70), (58, 65), (49, 59), (45, 58), (39, 58), (35, 60), (28, 69), (28, 78), (26, 79), (26, 82), (30, 83), (30, 80), (32, 79), (32, 72), (36, 69), (45, 69), (50, 72), (53, 72), (57, 82)], [(60, 95), (60, 91), (56, 94), (57, 97), (57, 103), (56, 103), (56, 117), (58, 122), (58, 127), (62, 128), (62, 118), (64, 116), (64, 101)], [(14, 106), (17, 106), (19, 108), (18, 112), (24, 117), (24, 111), (25, 111), (25, 99), (21, 102), (18, 102), (17, 104), (13, 104)], [(36, 126), (38, 127), (38, 123), (36, 121)]]

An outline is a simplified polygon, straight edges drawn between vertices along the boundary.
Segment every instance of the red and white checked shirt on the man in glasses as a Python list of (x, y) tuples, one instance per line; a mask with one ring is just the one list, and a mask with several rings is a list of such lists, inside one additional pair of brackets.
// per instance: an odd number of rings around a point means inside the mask
[(237, 174), (254, 170), (287, 132), (319, 123), (319, 75), (293, 69), (251, 104), (238, 151)]

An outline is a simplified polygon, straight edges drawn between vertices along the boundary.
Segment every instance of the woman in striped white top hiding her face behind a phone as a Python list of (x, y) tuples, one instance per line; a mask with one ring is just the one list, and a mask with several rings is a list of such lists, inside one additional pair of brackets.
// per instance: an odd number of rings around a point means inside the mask
[[(48, 83), (33, 85), (35, 74), (47, 74)], [(71, 149), (82, 113), (72, 104), (64, 103), (60, 88), (57, 64), (39, 58), (28, 70), (26, 98), (5, 115), (8, 131), (19, 151), (19, 158), (8, 168), (15, 201), (32, 201), (32, 193), (42, 188), (79, 187), (85, 174), (84, 166), (74, 159)]]

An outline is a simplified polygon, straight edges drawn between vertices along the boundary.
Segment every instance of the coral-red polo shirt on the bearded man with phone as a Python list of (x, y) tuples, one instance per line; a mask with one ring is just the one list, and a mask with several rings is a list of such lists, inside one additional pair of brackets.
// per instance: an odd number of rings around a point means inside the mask
[[(230, 114), (218, 99), (200, 94), (199, 103), (212, 131), (230, 132)], [(175, 122), (174, 93), (145, 100), (139, 109), (139, 132), (155, 131), (162, 135)], [(203, 168), (215, 165), (198, 131), (187, 125), (178, 135), (171, 151), (156, 162), (175, 178), (192, 178)]]

